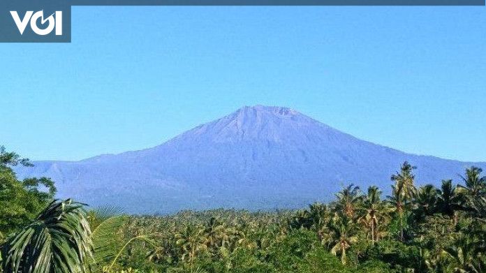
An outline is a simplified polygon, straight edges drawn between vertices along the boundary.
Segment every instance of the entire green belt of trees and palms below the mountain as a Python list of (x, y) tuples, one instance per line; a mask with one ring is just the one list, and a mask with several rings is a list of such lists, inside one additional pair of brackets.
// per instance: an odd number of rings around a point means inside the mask
[(436, 188), (405, 162), (391, 189), (350, 184), (297, 211), (131, 216), (54, 200), (54, 182), (19, 180), (17, 164), (31, 165), (1, 147), (4, 273), (486, 272), (486, 177), (473, 166)]

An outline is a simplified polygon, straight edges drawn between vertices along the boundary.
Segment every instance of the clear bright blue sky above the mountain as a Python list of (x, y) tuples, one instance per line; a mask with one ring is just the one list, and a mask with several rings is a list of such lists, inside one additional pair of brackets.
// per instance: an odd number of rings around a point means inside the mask
[(73, 7), (0, 44), (0, 144), (78, 160), (288, 106), (404, 152), (486, 161), (485, 7)]

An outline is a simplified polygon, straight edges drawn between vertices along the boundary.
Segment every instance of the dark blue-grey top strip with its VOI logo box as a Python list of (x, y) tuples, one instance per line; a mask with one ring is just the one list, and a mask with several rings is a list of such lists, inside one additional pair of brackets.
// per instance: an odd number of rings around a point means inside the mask
[(485, 6), (485, 0), (0, 0), (0, 43), (70, 43), (72, 6)]

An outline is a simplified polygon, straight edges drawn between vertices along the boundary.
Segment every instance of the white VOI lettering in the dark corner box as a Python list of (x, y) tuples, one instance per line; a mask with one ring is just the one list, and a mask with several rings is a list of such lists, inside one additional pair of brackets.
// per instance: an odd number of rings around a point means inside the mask
[[(25, 13), (22, 20), (20, 19), (20, 15), (17, 13), (17, 11), (10, 11), (10, 14), (12, 15), (13, 21), (20, 31), (20, 35), (24, 34), (25, 28), (29, 22), (31, 29), (35, 34), (47, 35), (55, 30), (56, 35), (62, 35), (62, 11), (56, 11), (49, 17), (44, 18), (44, 10), (40, 10), (36, 13), (29, 10)], [(38, 21), (40, 21), (41, 27), (38, 27)], [(47, 25), (44, 27), (46, 22)]]

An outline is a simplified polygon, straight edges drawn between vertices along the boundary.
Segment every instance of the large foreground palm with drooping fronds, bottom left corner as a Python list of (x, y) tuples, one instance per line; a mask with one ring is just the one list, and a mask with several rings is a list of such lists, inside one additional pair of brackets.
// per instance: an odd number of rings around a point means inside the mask
[(53, 201), (2, 247), (5, 273), (84, 273), (91, 260), (91, 230), (82, 204)]

